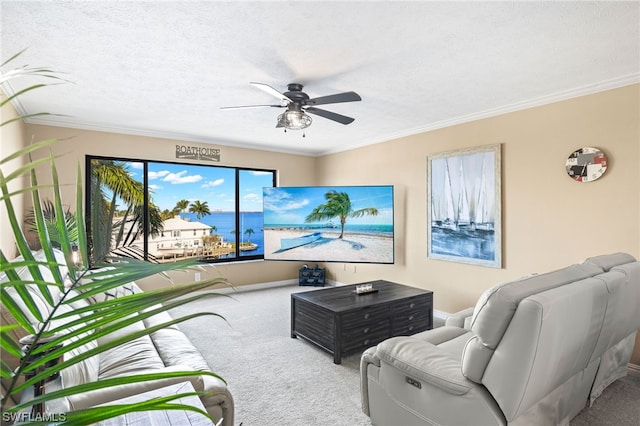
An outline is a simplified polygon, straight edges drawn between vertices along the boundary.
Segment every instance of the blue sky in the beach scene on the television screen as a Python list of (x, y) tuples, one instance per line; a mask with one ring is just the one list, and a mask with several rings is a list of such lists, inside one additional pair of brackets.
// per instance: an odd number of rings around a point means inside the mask
[(320, 204), (326, 203), (330, 190), (346, 192), (353, 210), (367, 207), (378, 209), (377, 216), (365, 215), (349, 219), (351, 224), (393, 224), (392, 186), (332, 186), (332, 187), (280, 187), (266, 190), (264, 223), (302, 224), (305, 217)]

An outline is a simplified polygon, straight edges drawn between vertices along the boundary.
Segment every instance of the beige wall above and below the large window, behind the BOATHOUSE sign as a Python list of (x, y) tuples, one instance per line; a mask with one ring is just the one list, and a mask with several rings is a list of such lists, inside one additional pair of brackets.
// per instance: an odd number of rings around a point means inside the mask
[[(71, 200), (75, 196), (75, 181), (78, 164), (84, 169), (85, 155), (102, 155), (127, 158), (144, 158), (149, 160), (180, 161), (175, 158), (175, 146), (193, 145), (210, 147), (210, 145), (176, 142), (168, 139), (131, 136), (123, 134), (96, 132), (61, 127), (27, 125), (28, 139), (43, 140), (48, 138), (62, 139), (54, 145), (54, 152), (61, 157), (57, 160), (60, 182), (64, 185), (63, 200)], [(280, 154), (268, 151), (248, 150), (216, 145), (221, 150), (221, 162), (224, 166), (243, 166), (278, 171), (279, 185), (312, 185), (315, 181), (315, 158), (299, 155)], [(44, 152), (41, 154), (45, 154)], [(193, 160), (188, 162), (193, 163)], [(202, 164), (212, 164), (202, 162)], [(41, 179), (50, 177), (50, 171), (42, 171)], [(4, 240), (4, 238), (3, 238)], [(217, 276), (228, 278), (234, 285), (273, 282), (297, 277), (301, 264), (296, 262), (262, 262), (247, 261), (238, 264), (207, 267), (202, 273), (203, 279)], [(194, 279), (193, 272), (175, 274), (176, 280)], [(159, 285), (160, 278), (148, 279), (140, 284), (143, 288)]]

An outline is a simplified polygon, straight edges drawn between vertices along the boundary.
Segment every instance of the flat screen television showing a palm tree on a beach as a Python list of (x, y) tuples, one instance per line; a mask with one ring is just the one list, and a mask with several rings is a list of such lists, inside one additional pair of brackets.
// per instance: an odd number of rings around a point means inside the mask
[(394, 263), (393, 186), (263, 188), (264, 258)]

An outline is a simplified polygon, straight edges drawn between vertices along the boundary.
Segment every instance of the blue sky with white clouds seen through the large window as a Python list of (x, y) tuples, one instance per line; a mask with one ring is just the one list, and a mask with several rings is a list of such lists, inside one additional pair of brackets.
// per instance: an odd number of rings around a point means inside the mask
[[(134, 179), (142, 181), (142, 163), (129, 163)], [(242, 171), (240, 210), (262, 210), (262, 188), (272, 185), (272, 174)], [(180, 200), (207, 202), (213, 212), (235, 209), (235, 170), (226, 167), (149, 162), (149, 188), (161, 210), (173, 209)]]

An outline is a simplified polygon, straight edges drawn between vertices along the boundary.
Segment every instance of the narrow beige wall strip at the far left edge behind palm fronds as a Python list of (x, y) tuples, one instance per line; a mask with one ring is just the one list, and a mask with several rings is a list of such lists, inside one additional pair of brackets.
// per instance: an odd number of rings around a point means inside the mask
[[(4, 101), (6, 99), (6, 95), (4, 92), (0, 90), (0, 100)], [(0, 123), (4, 123), (13, 118), (17, 118), (18, 113), (13, 108), (11, 104), (7, 104), (0, 109)], [(23, 147), (25, 143), (25, 125), (22, 120), (17, 120), (12, 123), (7, 124), (6, 126), (0, 127), (0, 158), (5, 159), (7, 156), (13, 154)], [(24, 164), (24, 158), (15, 159), (5, 166), (2, 165), (2, 172), (10, 173), (11, 171), (17, 169), (21, 165)], [(20, 181), (16, 180), (11, 183), (9, 186), (9, 191), (15, 190), (19, 185), (16, 185)], [(26, 184), (26, 182), (23, 181)], [(13, 203), (13, 208), (20, 220), (20, 223), (23, 222), (24, 218), (24, 203), (22, 197), (12, 197), (11, 202)], [(17, 255), (16, 244), (13, 238), (8, 238), (6, 236), (13, 235), (11, 232), (11, 225), (9, 224), (9, 220), (7, 217), (7, 209), (5, 208), (5, 204), (0, 204), (0, 249), (9, 259), (14, 258)]]

